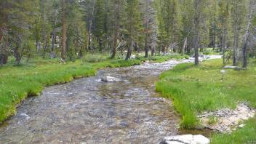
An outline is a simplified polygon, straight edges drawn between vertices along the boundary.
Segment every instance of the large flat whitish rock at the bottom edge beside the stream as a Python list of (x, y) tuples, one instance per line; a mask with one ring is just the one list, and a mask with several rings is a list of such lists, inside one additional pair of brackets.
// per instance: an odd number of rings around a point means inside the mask
[(172, 135), (159, 144), (209, 144), (209, 139), (203, 135)]

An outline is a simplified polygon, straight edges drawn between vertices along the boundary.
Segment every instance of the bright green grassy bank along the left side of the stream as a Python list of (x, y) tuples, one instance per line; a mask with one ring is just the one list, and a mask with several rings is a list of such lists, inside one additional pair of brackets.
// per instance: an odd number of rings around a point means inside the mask
[(139, 65), (146, 60), (164, 62), (188, 58), (188, 55), (136, 57), (110, 60), (103, 55), (87, 55), (75, 62), (59, 63), (58, 59), (33, 59), (29, 63), (0, 67), (0, 123), (16, 113), (16, 106), (28, 96), (39, 95), (49, 85), (62, 84), (76, 78), (94, 76), (100, 68)]

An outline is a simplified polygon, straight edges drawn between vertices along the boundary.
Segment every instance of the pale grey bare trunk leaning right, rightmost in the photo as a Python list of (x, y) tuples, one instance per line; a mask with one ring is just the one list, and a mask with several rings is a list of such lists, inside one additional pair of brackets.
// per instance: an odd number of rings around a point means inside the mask
[(247, 68), (247, 47), (248, 47), (248, 42), (249, 42), (249, 29), (251, 28), (252, 25), (252, 16), (255, 12), (255, 0), (250, 1), (250, 10), (249, 10), (249, 20), (247, 23), (247, 30), (244, 34), (244, 39), (243, 39), (243, 50), (242, 50), (242, 56), (243, 56), (243, 68)]

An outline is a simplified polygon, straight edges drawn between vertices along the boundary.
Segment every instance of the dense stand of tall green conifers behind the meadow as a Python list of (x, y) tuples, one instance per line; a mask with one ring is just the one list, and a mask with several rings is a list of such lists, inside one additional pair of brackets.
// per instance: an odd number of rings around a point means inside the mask
[(255, 57), (255, 0), (0, 0), (0, 63), (103, 53)]

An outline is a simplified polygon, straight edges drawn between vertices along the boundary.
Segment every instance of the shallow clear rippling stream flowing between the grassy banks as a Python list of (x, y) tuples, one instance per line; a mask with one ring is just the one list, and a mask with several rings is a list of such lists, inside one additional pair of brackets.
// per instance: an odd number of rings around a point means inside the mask
[[(46, 87), (0, 127), (0, 143), (158, 143), (179, 134), (179, 116), (155, 92), (159, 74), (178, 63), (107, 68), (97, 76)], [(119, 82), (106, 83), (102, 76)]]

